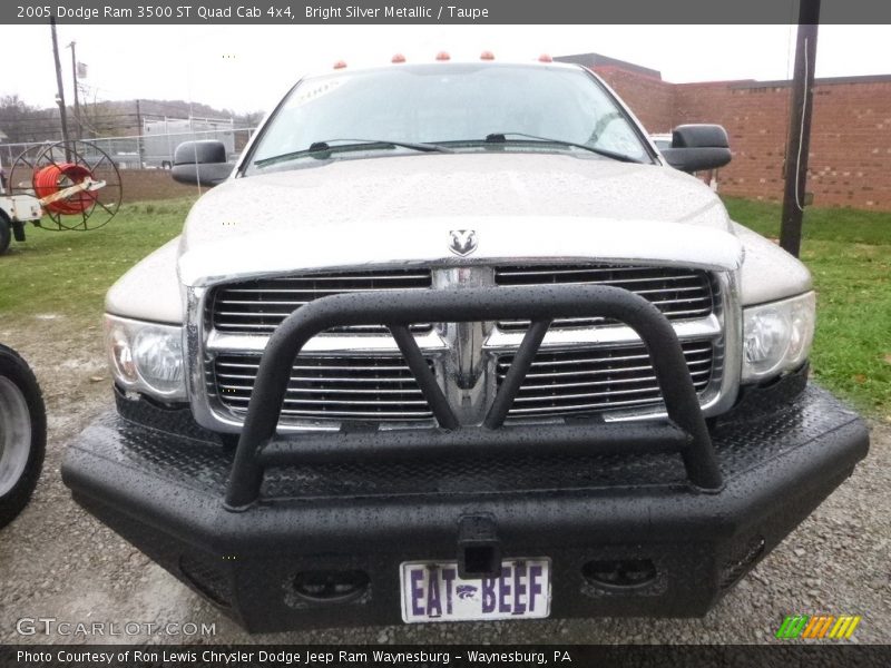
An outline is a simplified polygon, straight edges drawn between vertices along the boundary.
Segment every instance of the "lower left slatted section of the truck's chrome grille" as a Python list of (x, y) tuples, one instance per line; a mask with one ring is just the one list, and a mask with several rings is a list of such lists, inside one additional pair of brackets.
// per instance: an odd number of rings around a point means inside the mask
[[(433, 362), (428, 360), (431, 372)], [(213, 360), (208, 392), (244, 418), (254, 389), (258, 355), (221, 354)], [(432, 412), (401, 356), (309, 356), (296, 358), (282, 420), (428, 420)]]

